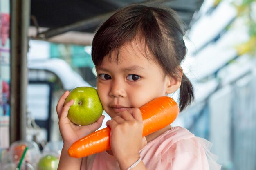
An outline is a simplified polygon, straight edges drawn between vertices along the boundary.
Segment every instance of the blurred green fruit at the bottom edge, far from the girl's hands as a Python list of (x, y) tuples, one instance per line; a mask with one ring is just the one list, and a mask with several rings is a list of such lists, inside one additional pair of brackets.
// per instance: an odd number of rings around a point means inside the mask
[(57, 170), (59, 159), (54, 155), (45, 155), (37, 165), (37, 170)]

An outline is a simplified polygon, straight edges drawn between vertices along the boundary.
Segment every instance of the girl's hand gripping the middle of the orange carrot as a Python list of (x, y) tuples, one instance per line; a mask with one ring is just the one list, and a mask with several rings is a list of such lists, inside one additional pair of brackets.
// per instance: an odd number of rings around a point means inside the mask
[(107, 121), (106, 125), (111, 128), (110, 147), (119, 165), (126, 163), (129, 167), (139, 159), (139, 150), (147, 144), (146, 138), (142, 137), (143, 122), (140, 110), (121, 112)]

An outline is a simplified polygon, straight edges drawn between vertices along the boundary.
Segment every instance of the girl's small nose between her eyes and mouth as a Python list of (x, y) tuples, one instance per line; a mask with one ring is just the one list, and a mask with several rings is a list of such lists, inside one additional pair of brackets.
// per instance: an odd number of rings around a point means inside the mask
[(109, 92), (110, 97), (126, 97), (126, 90), (124, 83), (112, 81)]

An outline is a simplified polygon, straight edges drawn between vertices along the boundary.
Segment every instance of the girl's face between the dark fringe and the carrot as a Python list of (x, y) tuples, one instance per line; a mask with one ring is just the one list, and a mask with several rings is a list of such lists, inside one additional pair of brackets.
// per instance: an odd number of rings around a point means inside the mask
[(118, 112), (139, 108), (154, 98), (165, 96), (170, 78), (140, 47), (127, 44), (119, 51), (119, 61), (105, 56), (97, 71), (97, 90), (104, 110), (113, 118)]

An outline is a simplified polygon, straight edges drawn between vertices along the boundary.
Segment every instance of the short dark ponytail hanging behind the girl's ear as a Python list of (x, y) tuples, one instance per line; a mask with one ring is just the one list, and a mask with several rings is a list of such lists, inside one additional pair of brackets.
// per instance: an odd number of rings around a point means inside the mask
[(184, 110), (194, 99), (193, 85), (186, 77), (182, 76), (180, 85), (180, 111)]

